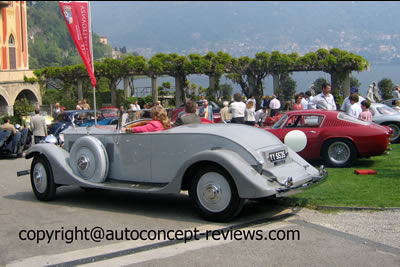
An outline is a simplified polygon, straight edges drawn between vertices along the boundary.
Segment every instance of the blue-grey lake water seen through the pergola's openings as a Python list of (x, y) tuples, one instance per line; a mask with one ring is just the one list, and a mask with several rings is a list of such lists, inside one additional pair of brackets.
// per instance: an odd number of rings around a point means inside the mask
[[(366, 96), (368, 92), (368, 87), (372, 82), (379, 82), (383, 78), (389, 78), (393, 81), (394, 84), (400, 83), (400, 65), (371, 65), (369, 71), (363, 72), (354, 72), (352, 76), (357, 78), (360, 83), (360, 93), (362, 96)], [(311, 84), (318, 79), (319, 77), (328, 78), (330, 81), (330, 75), (326, 74), (322, 71), (311, 71), (311, 72), (295, 72), (292, 75), (292, 78), (297, 82), (296, 83), (296, 91), (297, 92), (305, 92), (310, 89)], [(208, 87), (208, 77), (206, 75), (189, 75), (188, 80), (191, 83), (194, 83), (199, 87), (200, 85), (203, 87)], [(175, 86), (175, 79), (173, 77), (160, 77), (157, 79), (157, 84), (161, 85), (163, 82), (170, 82), (171, 85)], [(231, 80), (226, 79), (225, 76), (221, 78), (220, 84), (228, 83), (232, 84), (235, 92), (241, 92), (241, 88), (237, 84), (233, 84)], [(140, 92), (143, 87), (151, 87), (151, 79), (150, 78), (142, 78), (137, 79), (134, 82), (135, 88)], [(119, 85), (122, 88), (122, 83)], [(271, 95), (273, 91), (273, 79), (271, 76), (268, 76), (264, 80), (264, 95)]]

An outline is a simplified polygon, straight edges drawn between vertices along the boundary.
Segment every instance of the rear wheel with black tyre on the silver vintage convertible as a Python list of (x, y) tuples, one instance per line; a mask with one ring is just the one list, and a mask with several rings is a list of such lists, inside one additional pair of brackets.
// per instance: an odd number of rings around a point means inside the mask
[(245, 200), (239, 197), (231, 176), (219, 166), (199, 169), (189, 187), (189, 196), (206, 220), (225, 222), (237, 216)]

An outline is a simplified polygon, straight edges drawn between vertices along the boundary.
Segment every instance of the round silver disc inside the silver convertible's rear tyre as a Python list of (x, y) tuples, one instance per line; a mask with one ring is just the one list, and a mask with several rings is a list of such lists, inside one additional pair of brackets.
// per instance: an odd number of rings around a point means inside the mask
[(223, 211), (231, 202), (230, 185), (226, 178), (219, 173), (208, 172), (201, 176), (196, 190), (200, 204), (208, 211)]

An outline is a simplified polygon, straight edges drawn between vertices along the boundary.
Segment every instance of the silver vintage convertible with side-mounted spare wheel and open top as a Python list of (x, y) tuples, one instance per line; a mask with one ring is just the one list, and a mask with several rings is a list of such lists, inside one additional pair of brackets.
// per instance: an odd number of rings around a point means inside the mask
[(147, 193), (188, 190), (205, 219), (228, 221), (246, 199), (283, 196), (327, 177), (323, 166), (317, 170), (255, 127), (193, 124), (135, 134), (108, 127), (70, 127), (63, 147), (41, 143), (27, 151), (39, 200), (51, 200), (60, 185)]

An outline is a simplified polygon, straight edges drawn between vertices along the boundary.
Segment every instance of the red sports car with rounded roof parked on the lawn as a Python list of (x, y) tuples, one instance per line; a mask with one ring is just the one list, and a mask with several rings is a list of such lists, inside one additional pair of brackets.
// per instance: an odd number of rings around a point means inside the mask
[(348, 167), (356, 158), (380, 155), (390, 143), (389, 127), (355, 119), (343, 112), (287, 112), (265, 130), (276, 135), (306, 160), (320, 159), (331, 167)]

